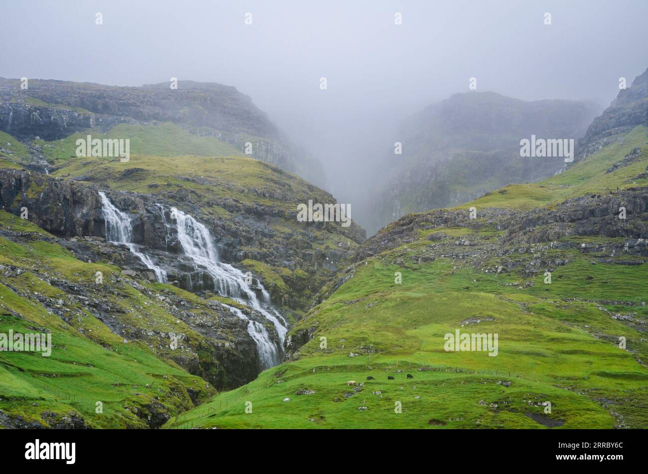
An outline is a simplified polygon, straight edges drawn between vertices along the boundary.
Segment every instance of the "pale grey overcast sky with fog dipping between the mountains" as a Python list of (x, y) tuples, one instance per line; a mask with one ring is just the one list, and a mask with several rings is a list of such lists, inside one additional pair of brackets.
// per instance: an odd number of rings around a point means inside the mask
[(607, 106), (619, 76), (648, 67), (648, 0), (29, 0), (2, 12), (0, 76), (234, 85), (326, 164), (342, 200), (404, 116), (470, 77), (479, 91)]

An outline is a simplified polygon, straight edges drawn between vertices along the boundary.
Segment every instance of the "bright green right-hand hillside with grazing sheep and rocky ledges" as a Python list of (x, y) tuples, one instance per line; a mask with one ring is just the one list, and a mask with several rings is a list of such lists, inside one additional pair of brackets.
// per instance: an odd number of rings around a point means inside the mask
[[(292, 328), (288, 362), (165, 427), (648, 427), (648, 129), (616, 139), (388, 225)], [(457, 330), (497, 333), (496, 356), (446, 351)]]

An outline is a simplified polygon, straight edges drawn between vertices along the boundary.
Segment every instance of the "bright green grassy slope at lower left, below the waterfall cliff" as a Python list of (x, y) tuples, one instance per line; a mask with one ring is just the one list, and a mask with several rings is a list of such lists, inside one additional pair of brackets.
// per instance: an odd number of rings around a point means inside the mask
[[(9, 231), (19, 232), (25, 243), (6, 238)], [(32, 427), (69, 423), (65, 417), (81, 418), (95, 428), (146, 427), (150, 416), (168, 417), (194, 406), (189, 392), (198, 400), (214, 393), (203, 379), (165, 361), (145, 344), (111, 332), (49, 280), (87, 284), (102, 271), (106, 284), (95, 291), (105, 295), (110, 288), (108, 293), (124, 311), (146, 306), (146, 311), (133, 314), (138, 324), (199, 337), (156, 307), (156, 292), (167, 285), (138, 291), (127, 278), (119, 278), (119, 268), (82, 262), (41, 237), (51, 236), (0, 211), (0, 333), (48, 332), (54, 346), (49, 357), (0, 352), (0, 416), (20, 416)], [(59, 300), (57, 307), (68, 316), (62, 319), (47, 310), (51, 300)], [(102, 402), (101, 413), (97, 401)]]

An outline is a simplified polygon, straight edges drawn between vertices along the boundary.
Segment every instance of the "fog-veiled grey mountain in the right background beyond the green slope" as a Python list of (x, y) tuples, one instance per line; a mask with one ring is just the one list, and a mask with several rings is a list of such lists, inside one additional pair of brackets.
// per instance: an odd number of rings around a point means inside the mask
[(561, 158), (520, 157), (520, 140), (577, 139), (596, 116), (592, 104), (525, 102), (496, 93), (456, 94), (402, 124), (402, 155), (390, 154), (377, 197), (375, 227), (408, 212), (458, 205), (509, 183), (561, 170)]

